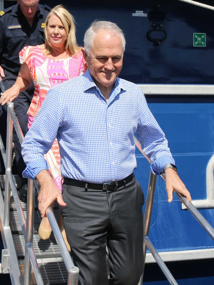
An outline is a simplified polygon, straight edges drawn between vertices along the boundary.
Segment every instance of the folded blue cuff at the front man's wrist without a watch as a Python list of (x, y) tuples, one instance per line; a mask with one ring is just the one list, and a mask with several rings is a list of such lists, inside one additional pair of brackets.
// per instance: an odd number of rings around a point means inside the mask
[(37, 159), (37, 160), (28, 164), (28, 166), (22, 172), (22, 176), (24, 178), (29, 178), (29, 179), (35, 180), (35, 177), (37, 176), (37, 174), (44, 169), (46, 169), (46, 170), (49, 169), (49, 165), (48, 165), (47, 161), (45, 159), (44, 160)]

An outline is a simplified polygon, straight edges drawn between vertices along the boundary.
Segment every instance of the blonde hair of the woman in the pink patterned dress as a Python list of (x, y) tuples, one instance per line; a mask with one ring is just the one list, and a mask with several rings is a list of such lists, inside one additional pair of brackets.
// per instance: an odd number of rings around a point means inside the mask
[(66, 32), (68, 33), (68, 37), (65, 43), (66, 52), (68, 54), (76, 55), (80, 50), (80, 47), (78, 47), (76, 42), (75, 20), (74, 17), (68, 12), (68, 10), (66, 10), (62, 5), (57, 5), (53, 9), (51, 9), (45, 20), (44, 33), (45, 33), (45, 48), (47, 53), (50, 54), (54, 50), (54, 47), (51, 45), (47, 37), (48, 21), (52, 15), (56, 15), (60, 19)]

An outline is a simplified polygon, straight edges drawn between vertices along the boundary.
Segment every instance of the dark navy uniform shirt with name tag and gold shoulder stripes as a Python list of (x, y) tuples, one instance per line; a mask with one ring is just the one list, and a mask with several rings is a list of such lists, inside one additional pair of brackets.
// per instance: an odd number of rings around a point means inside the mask
[(19, 52), (23, 47), (45, 42), (43, 28), (50, 10), (47, 5), (38, 5), (32, 27), (18, 3), (0, 12), (0, 65), (7, 74), (7, 80), (18, 76), (21, 66)]

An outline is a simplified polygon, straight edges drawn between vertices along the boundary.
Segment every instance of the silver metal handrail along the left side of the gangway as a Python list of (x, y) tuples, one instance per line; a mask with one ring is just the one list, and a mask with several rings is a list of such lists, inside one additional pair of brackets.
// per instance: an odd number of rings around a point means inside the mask
[[(2, 92), (5, 92), (5, 87), (0, 76), (0, 87)], [(24, 269), (24, 285), (31, 283), (31, 265), (38, 285), (44, 285), (42, 280), (39, 265), (37, 263), (36, 255), (33, 250), (33, 223), (34, 223), (34, 202), (35, 202), (35, 186), (39, 192), (39, 183), (37, 180), (28, 180), (27, 191), (27, 219), (23, 215), (23, 210), (19, 200), (18, 192), (15, 186), (12, 175), (12, 140), (13, 140), (13, 125), (17, 132), (19, 142), (22, 144), (24, 136), (21, 131), (21, 127), (14, 112), (13, 103), (7, 102), (7, 146), (6, 152), (2, 138), (0, 136), (0, 148), (5, 163), (5, 207), (4, 207), (4, 227), (9, 227), (9, 211), (10, 211), (10, 188), (13, 193), (15, 205), (21, 222), (23, 236), (25, 239), (25, 269)], [(35, 185), (34, 185), (35, 184)], [(46, 214), (49, 219), (56, 243), (58, 244), (60, 253), (64, 260), (65, 266), (68, 270), (68, 283), (69, 285), (78, 284), (79, 268), (74, 266), (73, 260), (67, 249), (66, 243), (62, 237), (62, 233), (59, 229), (58, 223), (54, 216), (51, 206), (46, 209)], [(21, 273), (20, 273), (21, 274)]]

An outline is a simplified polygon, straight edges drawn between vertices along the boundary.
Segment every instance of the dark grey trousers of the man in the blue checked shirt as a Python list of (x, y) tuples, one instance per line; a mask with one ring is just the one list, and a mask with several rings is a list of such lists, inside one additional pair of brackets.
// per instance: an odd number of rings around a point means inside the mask
[[(137, 285), (143, 272), (144, 194), (135, 178), (114, 190), (62, 185), (64, 228), (79, 285)], [(106, 268), (109, 252), (110, 278)]]

